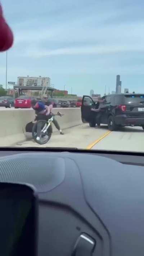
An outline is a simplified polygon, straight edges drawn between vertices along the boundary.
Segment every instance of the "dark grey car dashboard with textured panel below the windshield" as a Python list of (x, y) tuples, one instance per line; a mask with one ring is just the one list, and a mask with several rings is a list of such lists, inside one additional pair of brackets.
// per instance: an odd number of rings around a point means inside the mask
[(39, 195), (38, 255), (144, 254), (143, 154), (1, 150), (0, 182)]

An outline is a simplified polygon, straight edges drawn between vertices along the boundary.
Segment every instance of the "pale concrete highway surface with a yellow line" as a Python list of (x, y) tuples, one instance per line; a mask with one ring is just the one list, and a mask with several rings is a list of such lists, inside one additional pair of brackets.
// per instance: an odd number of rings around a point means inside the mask
[(17, 147), (74, 147), (83, 149), (139, 151), (144, 152), (144, 131), (141, 127), (121, 127), (109, 131), (106, 125), (91, 128), (88, 124), (64, 130), (64, 135), (55, 132), (47, 144), (39, 145), (30, 140), (15, 144)]

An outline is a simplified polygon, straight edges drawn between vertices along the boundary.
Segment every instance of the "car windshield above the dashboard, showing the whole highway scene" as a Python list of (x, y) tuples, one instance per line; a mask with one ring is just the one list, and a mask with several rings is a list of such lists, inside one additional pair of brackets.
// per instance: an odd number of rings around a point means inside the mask
[(0, 146), (144, 152), (144, 2), (0, 5)]

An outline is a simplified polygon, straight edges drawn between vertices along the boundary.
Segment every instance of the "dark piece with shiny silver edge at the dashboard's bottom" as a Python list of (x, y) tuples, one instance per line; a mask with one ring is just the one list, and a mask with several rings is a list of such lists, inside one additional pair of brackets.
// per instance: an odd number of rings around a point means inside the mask
[(72, 256), (92, 256), (95, 248), (95, 240), (83, 233), (78, 237)]

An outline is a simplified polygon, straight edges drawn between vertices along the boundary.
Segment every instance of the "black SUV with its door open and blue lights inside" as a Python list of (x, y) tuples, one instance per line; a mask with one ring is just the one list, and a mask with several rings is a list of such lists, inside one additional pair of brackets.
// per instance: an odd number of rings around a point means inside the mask
[[(100, 104), (100, 123), (107, 124), (114, 131), (118, 126), (141, 126), (144, 129), (144, 94), (112, 94), (103, 96)], [(81, 117), (83, 123), (96, 125), (96, 112), (91, 111), (96, 103), (90, 96), (83, 96)]]

